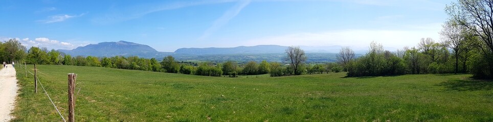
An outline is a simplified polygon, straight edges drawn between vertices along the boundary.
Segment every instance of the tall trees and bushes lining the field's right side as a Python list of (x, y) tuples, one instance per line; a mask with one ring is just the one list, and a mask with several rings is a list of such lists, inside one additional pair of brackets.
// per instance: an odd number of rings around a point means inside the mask
[(346, 47), (338, 55), (348, 76), (426, 73), (471, 73), (493, 78), (493, 1), (459, 0), (445, 9), (450, 16), (439, 32), (441, 41), (422, 38), (417, 46), (391, 52), (372, 42), (368, 53), (353, 58)]

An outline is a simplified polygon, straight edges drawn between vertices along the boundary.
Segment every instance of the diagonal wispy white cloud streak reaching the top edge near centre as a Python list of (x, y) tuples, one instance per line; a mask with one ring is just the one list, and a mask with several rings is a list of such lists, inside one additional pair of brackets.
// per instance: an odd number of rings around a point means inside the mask
[(250, 4), (250, 0), (239, 1), (233, 8), (226, 11), (221, 17), (216, 19), (211, 27), (209, 27), (198, 40), (204, 40), (211, 34), (216, 32), (219, 28), (226, 25), (231, 19), (233, 19), (240, 11)]

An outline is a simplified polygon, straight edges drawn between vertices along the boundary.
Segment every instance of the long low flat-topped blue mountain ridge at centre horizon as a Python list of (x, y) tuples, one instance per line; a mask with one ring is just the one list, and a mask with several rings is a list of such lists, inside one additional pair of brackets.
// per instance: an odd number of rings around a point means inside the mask
[(279, 45), (257, 45), (257, 46), (239, 46), (229, 48), (180, 48), (174, 53), (207, 55), (207, 54), (259, 54), (259, 53), (284, 53), (286, 46)]

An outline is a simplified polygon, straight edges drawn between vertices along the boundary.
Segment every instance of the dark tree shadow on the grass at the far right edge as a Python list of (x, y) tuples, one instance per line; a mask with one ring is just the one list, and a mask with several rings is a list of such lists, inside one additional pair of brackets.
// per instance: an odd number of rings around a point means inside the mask
[(457, 90), (457, 91), (491, 90), (493, 89), (493, 81), (460, 79), (460, 80), (445, 81), (439, 83), (438, 86), (444, 86), (445, 88), (447, 88), (447, 90)]

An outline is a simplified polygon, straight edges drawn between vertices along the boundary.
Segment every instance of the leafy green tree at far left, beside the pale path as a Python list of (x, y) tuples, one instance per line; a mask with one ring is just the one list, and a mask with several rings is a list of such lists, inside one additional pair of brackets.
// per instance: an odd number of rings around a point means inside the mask
[(9, 39), (9, 41), (5, 42), (4, 46), (9, 62), (20, 60), (26, 55), (26, 47), (20, 44), (17, 39)]

